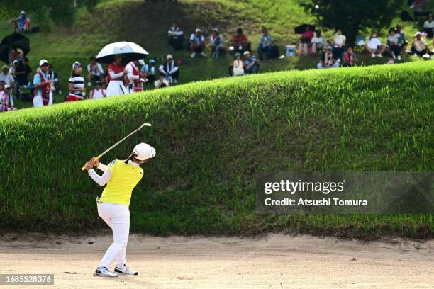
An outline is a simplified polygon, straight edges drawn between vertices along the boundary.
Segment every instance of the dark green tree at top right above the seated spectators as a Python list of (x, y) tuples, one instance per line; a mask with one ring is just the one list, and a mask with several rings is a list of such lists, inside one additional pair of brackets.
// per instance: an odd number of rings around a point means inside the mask
[(403, 0), (307, 0), (302, 5), (321, 26), (342, 30), (350, 44), (361, 30), (390, 26), (402, 3)]

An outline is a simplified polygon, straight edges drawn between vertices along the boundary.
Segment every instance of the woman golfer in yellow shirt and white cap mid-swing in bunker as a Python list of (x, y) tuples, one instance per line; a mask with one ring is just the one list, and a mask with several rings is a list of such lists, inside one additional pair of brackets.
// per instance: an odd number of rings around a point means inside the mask
[[(101, 199), (97, 199), (98, 215), (113, 231), (113, 243), (107, 249), (106, 254), (96, 268), (94, 276), (117, 277), (119, 274), (137, 275), (137, 271), (126, 266), (126, 246), (130, 231), (130, 198), (133, 188), (143, 177), (144, 164), (148, 159), (155, 157), (155, 149), (148, 144), (140, 143), (134, 147), (133, 153), (126, 160), (114, 160), (105, 166), (96, 158), (86, 163), (89, 176), (106, 188)], [(93, 167), (104, 171), (102, 176), (96, 174)], [(109, 270), (110, 264), (116, 261), (113, 271)]]

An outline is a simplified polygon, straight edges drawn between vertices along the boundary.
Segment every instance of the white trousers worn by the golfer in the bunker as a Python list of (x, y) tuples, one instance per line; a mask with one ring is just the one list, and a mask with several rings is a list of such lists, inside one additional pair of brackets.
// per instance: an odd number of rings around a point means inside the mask
[(128, 205), (101, 203), (98, 204), (98, 215), (111, 227), (113, 243), (99, 263), (99, 267), (109, 268), (111, 262), (123, 267), (126, 262), (126, 246), (130, 233), (130, 210)]

